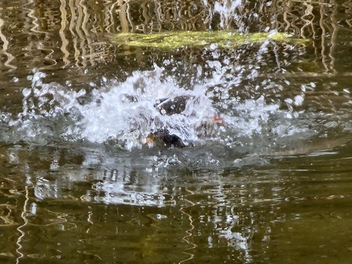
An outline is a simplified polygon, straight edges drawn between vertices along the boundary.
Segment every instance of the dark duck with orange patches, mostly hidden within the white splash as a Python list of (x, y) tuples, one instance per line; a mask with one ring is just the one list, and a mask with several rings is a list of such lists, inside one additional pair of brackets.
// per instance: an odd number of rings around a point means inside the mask
[[(188, 102), (191, 100), (197, 103), (200, 99), (193, 95), (179, 95), (159, 98), (155, 101), (154, 107), (160, 115), (171, 116), (174, 114), (182, 114), (186, 110)], [(223, 119), (219, 115), (214, 115), (212, 121), (218, 125), (223, 123)], [(205, 127), (203, 127), (203, 129), (205, 129)], [(157, 129), (156, 131), (150, 133), (146, 138), (146, 144), (152, 142), (164, 144), (167, 148), (185, 148), (193, 146), (192, 143), (185, 144), (182, 138), (175, 134), (171, 134), (166, 128)]]

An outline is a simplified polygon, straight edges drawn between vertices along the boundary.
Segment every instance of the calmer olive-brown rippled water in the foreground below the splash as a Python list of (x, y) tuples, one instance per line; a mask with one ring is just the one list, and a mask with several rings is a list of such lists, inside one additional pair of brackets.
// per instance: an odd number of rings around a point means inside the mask
[[(351, 199), (350, 143), (346, 147), (335, 148), (338, 156), (218, 171), (180, 166), (155, 171), (139, 168), (140, 157), (119, 162), (121, 157), (109, 161), (81, 150), (38, 149), (29, 155), (12, 149), (3, 157), (12, 175), (1, 179), (1, 197), (10, 202), (1, 207), (1, 228), (14, 244), (4, 245), (3, 257), (11, 261), (17, 250), (23, 261), (54, 255), (68, 262), (267, 257), (280, 263), (285, 254), (305, 263), (336, 261), (333, 252), (342, 250), (343, 261), (349, 254)], [(97, 158), (104, 162), (94, 165)], [(337, 242), (333, 237), (339, 233), (344, 235)], [(300, 260), (303, 253), (307, 258)]]

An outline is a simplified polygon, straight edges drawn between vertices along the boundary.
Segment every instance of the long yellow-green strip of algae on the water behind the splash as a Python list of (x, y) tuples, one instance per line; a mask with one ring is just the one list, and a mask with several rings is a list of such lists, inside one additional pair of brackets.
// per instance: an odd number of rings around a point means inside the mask
[(307, 43), (309, 39), (291, 38), (286, 33), (248, 33), (239, 34), (229, 31), (177, 31), (152, 34), (118, 33), (114, 35), (117, 44), (134, 47), (154, 47), (178, 49), (216, 44), (219, 48), (233, 48), (243, 44), (264, 42), (266, 40)]

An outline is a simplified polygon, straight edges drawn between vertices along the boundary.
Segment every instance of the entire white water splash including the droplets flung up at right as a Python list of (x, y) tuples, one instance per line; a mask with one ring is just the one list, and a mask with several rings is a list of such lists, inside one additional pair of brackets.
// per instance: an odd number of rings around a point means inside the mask
[[(123, 81), (103, 77), (101, 84), (79, 91), (69, 84), (47, 83), (45, 73), (33, 70), (28, 76), (31, 87), (22, 91), (22, 112), (0, 116), (2, 127), (8, 125), (1, 139), (37, 145), (83, 142), (131, 151), (143, 148), (151, 133), (167, 129), (194, 146), (175, 160), (219, 164), (226, 148), (260, 155), (336, 129), (331, 122), (309, 121), (325, 116), (314, 109), (305, 111), (307, 95), (315, 93), (316, 84), (263, 78), (260, 63), (268, 48), (272, 48), (269, 40), (248, 56), (245, 49), (227, 54), (208, 47), (204, 51), (208, 60), (203, 66), (194, 65), (194, 72), (168, 70), (168, 65), (175, 65), (168, 61), (165, 68), (154, 65), (153, 70), (133, 71)], [(180, 82), (186, 77), (187, 84)], [(155, 107), (158, 99), (185, 95), (189, 100), (180, 114), (165, 115)], [(349, 98), (348, 93), (343, 96)], [(214, 122), (214, 116), (222, 122)], [(239, 158), (234, 153), (228, 156), (232, 161)]]

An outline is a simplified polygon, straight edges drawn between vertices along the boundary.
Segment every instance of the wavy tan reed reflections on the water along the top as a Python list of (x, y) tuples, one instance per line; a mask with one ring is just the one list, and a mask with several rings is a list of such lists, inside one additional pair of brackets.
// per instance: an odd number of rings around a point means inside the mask
[(297, 1), (3, 1), (2, 68), (43, 70), (75, 65), (85, 69), (131, 52), (143, 63), (142, 50), (118, 49), (106, 41), (107, 34), (116, 32), (275, 29), (312, 39), (316, 63), (324, 73), (336, 73), (334, 49), (338, 32), (349, 28), (349, 5)]

